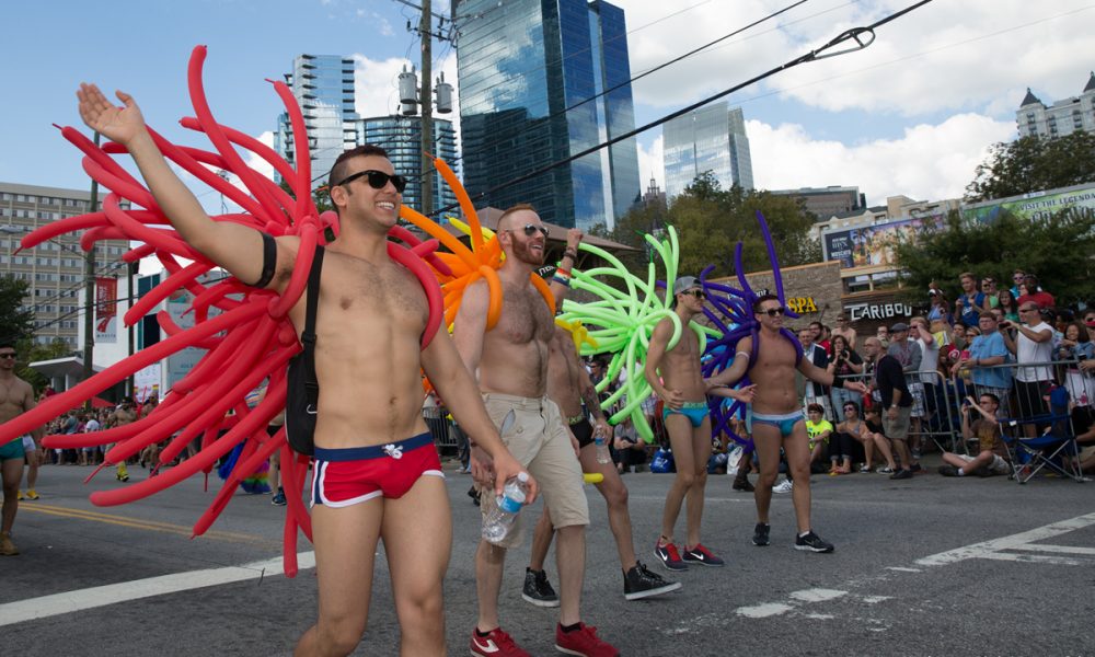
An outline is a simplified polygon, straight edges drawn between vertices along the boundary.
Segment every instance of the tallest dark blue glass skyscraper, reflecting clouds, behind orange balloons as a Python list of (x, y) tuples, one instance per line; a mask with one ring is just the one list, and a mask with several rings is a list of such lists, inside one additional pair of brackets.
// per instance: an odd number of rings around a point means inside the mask
[[(634, 128), (623, 11), (586, 0), (465, 0), (458, 73), (464, 185), (472, 195)], [(598, 93), (624, 83), (596, 101)], [(611, 226), (641, 194), (634, 138), (489, 192), (558, 226)]]

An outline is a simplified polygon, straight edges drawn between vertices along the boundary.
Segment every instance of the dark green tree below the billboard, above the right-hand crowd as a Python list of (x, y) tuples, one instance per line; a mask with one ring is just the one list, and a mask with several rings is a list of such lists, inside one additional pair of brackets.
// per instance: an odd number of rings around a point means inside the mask
[(1064, 210), (1042, 221), (1001, 212), (992, 223), (973, 223), (950, 212), (943, 226), (924, 228), (895, 246), (908, 284), (910, 301), (923, 302), (929, 283), (936, 281), (954, 300), (958, 275), (1010, 283), (1014, 269), (1034, 272), (1061, 306), (1091, 300), (1095, 274), (1095, 214)]

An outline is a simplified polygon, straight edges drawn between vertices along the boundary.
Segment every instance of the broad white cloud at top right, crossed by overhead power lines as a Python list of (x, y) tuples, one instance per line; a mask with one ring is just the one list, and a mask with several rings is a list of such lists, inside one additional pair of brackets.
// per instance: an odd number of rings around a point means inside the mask
[[(619, 4), (627, 11), (629, 30), (642, 27), (629, 35), (634, 74), (771, 13), (784, 0), (740, 0), (733, 12), (725, 3), (702, 3), (658, 22), (665, 4)], [(634, 88), (636, 102), (684, 105), (906, 5), (907, 0), (884, 0), (822, 12), (804, 5), (779, 23), (754, 27), (641, 80)], [(832, 112), (857, 108), (915, 116), (976, 110), (999, 118), (1017, 108), (1026, 87), (1048, 96), (1042, 100), (1079, 94), (1087, 80), (1090, 61), (1080, 59), (1091, 53), (1092, 19), (1095, 7), (1087, 0), (1058, 0), (1035, 11), (1027, 0), (935, 2), (878, 27), (875, 43), (861, 53), (789, 69), (745, 93), (774, 89)], [(775, 24), (781, 28), (771, 30)], [(688, 38), (680, 38), (682, 34)], [(1007, 106), (1002, 96), (1016, 97), (1016, 104)]]

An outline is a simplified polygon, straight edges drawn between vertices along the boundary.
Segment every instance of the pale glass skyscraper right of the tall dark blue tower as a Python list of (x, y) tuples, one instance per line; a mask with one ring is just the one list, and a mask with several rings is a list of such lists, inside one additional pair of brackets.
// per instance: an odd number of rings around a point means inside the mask
[(712, 103), (665, 124), (661, 128), (666, 195), (684, 192), (698, 175), (712, 172), (724, 189), (753, 188), (752, 160), (740, 107)]

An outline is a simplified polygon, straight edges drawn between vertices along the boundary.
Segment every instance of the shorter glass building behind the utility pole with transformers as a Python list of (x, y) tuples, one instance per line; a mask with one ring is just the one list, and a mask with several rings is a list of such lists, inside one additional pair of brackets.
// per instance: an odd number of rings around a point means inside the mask
[[(407, 176), (403, 204), (422, 210), (422, 118), (417, 116), (377, 116), (357, 124), (357, 143), (372, 143), (388, 151), (395, 172)], [(452, 122), (434, 118), (434, 141), (429, 152), (457, 168), (457, 134)], [(440, 174), (434, 176), (434, 207), (457, 203), (457, 195)]]

